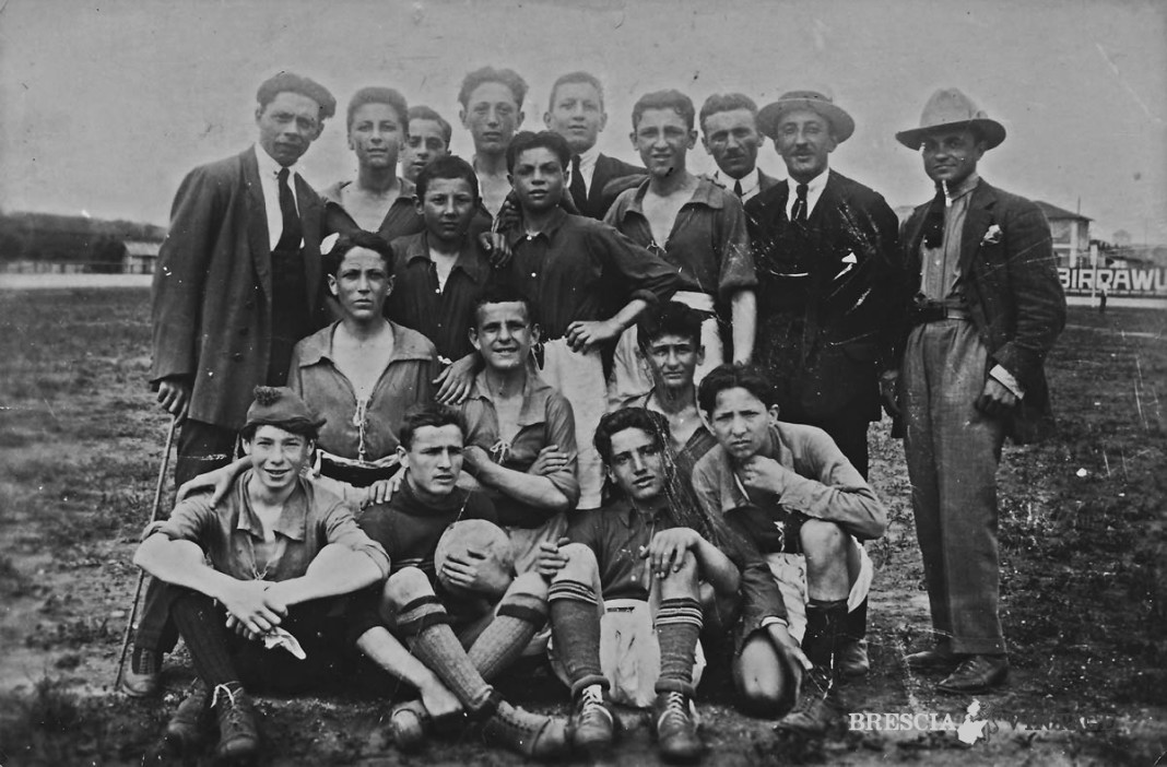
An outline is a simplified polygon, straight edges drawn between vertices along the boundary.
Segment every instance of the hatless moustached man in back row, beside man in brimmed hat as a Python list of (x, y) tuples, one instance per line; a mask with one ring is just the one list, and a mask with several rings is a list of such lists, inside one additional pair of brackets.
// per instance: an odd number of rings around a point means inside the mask
[(700, 113), (701, 145), (718, 163), (713, 183), (738, 195), (742, 204), (780, 181), (757, 167), (757, 151), (766, 142), (757, 131), (757, 104), (742, 93), (714, 93)]

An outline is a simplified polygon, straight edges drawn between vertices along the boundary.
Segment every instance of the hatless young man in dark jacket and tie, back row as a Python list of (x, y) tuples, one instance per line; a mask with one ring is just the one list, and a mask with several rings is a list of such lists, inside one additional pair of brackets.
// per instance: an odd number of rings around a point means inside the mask
[[(567, 139), (572, 149), (567, 190), (575, 209), (585, 216), (602, 221), (616, 195), (647, 173), (595, 148), (608, 113), (603, 111), (603, 85), (594, 75), (568, 72), (557, 79), (543, 123)], [(617, 183), (609, 187), (613, 181)]]

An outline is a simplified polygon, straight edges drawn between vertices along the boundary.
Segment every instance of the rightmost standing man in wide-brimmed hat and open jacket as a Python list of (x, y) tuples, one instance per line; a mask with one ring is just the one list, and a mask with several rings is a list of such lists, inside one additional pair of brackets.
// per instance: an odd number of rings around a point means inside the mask
[(1065, 323), (1065, 297), (1041, 210), (977, 174), (1005, 140), (1000, 123), (960, 91), (939, 90), (920, 127), (895, 138), (920, 152), (936, 183), (903, 226), (915, 298), (899, 371), (882, 381), (902, 417), (936, 637), (907, 662), (949, 672), (942, 692), (981, 692), (1008, 675), (997, 465), (1005, 437), (1034, 441), (1051, 426), (1042, 360)]

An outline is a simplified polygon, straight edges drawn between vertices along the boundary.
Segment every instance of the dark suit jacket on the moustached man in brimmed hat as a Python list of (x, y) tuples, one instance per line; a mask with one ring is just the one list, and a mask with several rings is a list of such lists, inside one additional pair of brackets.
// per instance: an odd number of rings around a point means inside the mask
[(746, 203), (757, 269), (755, 356), (792, 419), (878, 420), (880, 370), (904, 306), (897, 219), (883, 197), (829, 172), (805, 224), (787, 218), (789, 186)]

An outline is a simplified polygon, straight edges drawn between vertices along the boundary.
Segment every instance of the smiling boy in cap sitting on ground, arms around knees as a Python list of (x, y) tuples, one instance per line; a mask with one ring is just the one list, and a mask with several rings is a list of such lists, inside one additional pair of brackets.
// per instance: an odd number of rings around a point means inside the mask
[(291, 389), (258, 386), (240, 432), (251, 468), (217, 507), (181, 501), (144, 534), (134, 564), (168, 585), (166, 607), (197, 674), (166, 728), (174, 746), (197, 740), (214, 710), (218, 756), (254, 756), (244, 682), (294, 688), (328, 674), (343, 637), (330, 598), (389, 573), (349, 507), (300, 474), (322, 423)]

